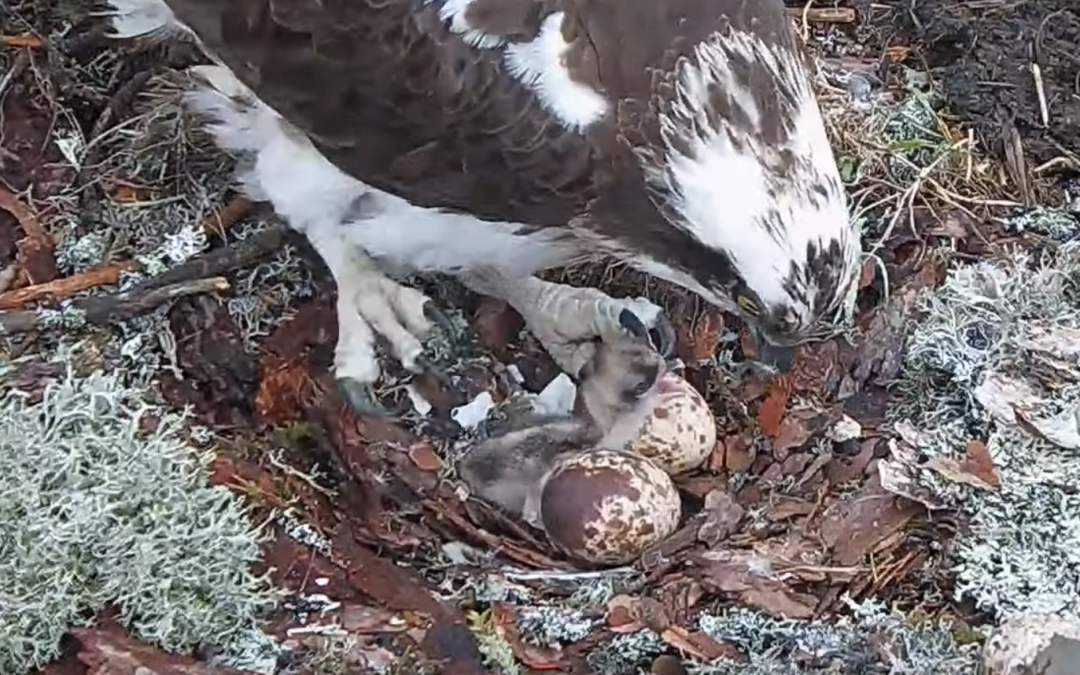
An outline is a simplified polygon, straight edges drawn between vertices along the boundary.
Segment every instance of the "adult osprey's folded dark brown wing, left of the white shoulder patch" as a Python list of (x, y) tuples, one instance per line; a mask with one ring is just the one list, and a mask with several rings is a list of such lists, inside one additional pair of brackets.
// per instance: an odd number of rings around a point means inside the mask
[[(440, 19), (440, 0), (167, 0), (265, 102), (341, 170), (413, 203), (565, 225), (588, 202), (591, 151)], [(531, 39), (531, 0), (503, 12)], [(516, 16), (515, 16), (516, 14)]]

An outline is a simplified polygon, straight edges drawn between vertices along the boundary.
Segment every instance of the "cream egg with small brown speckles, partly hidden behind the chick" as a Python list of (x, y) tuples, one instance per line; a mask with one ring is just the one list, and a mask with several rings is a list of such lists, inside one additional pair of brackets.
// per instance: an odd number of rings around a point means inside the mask
[(658, 403), (630, 450), (671, 475), (692, 471), (716, 446), (716, 418), (690, 382), (667, 373), (657, 383)]

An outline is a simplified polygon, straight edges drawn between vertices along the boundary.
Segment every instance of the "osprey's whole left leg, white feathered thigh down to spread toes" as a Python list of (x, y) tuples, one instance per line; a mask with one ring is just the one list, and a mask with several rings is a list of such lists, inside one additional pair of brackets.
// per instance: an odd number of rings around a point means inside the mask
[[(191, 72), (205, 86), (186, 105), (212, 120), (219, 147), (244, 156), (239, 176), (245, 193), (273, 204), (294, 229), (303, 232), (338, 288), (338, 343), (335, 373), (363, 414), (383, 410), (372, 384), (380, 375), (377, 341), (387, 343), (402, 365), (418, 372), (420, 340), (432, 327), (434, 310), (426, 295), (387, 276), (372, 257), (346, 239), (346, 224), (377, 214), (365, 211), (365, 185), (342, 174), (311, 141), (259, 102), (227, 68), (199, 66)], [(392, 225), (392, 224), (391, 224)]]

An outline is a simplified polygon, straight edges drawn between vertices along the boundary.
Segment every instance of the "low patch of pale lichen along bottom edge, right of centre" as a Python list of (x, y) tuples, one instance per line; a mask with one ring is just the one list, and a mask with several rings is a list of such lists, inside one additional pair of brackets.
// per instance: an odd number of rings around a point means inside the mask
[(969, 675), (978, 647), (960, 646), (944, 622), (913, 622), (876, 603), (849, 602), (851, 617), (829, 622), (780, 620), (746, 609), (702, 615), (700, 629), (733, 645), (748, 663), (719, 660), (697, 675)]

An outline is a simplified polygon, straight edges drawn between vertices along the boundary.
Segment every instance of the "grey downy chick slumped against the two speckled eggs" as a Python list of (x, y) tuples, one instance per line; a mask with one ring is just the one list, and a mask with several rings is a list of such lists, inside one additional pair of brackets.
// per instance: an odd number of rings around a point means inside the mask
[(546, 418), (489, 438), (458, 463), (458, 475), (476, 497), (537, 525), (542, 480), (566, 453), (620, 449), (656, 407), (663, 357), (646, 343), (600, 342), (580, 373), (581, 417)]

